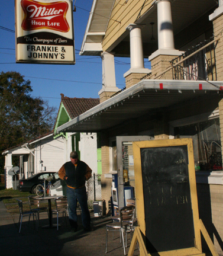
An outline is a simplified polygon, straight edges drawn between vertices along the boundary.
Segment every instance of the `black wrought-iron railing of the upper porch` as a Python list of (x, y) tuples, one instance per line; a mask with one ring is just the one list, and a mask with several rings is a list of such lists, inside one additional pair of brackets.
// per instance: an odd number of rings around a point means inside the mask
[[(213, 39), (205, 40), (203, 43), (200, 43), (195, 47), (193, 47), (192, 50), (188, 50), (188, 52), (183, 53), (183, 55), (176, 57), (170, 62), (170, 65), (172, 66), (175, 65), (172, 69), (173, 79), (176, 79), (176, 80), (204, 79), (206, 81), (217, 80), (217, 73), (216, 73), (216, 66), (215, 66), (216, 44), (215, 43), (209, 44), (211, 40)], [(190, 57), (188, 58), (188, 56)], [(183, 59), (185, 59), (185, 61), (182, 62)], [(179, 65), (176, 65), (176, 63), (178, 62), (180, 62)]]

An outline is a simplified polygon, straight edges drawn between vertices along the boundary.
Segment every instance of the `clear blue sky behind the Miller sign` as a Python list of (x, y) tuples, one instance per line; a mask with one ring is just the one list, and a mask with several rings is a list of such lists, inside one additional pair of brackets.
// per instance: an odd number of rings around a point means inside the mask
[[(39, 1), (41, 2), (41, 1)], [(0, 71), (16, 71), (31, 81), (32, 97), (48, 100), (59, 108), (61, 96), (70, 98), (99, 98), (102, 88), (102, 60), (99, 56), (80, 56), (83, 36), (93, 0), (73, 1), (75, 30), (75, 65), (49, 65), (15, 63), (15, 9), (14, 0), (1, 2), (0, 8)], [(145, 63), (145, 68), (148, 67)], [(117, 87), (125, 87), (124, 73), (130, 69), (130, 58), (115, 57)]]

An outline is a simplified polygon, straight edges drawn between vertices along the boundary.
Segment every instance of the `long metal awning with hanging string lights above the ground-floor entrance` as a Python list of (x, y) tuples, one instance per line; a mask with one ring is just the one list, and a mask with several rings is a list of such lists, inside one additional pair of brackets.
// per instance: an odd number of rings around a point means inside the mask
[(222, 87), (222, 81), (143, 80), (58, 127), (57, 133), (99, 132), (188, 100), (223, 95)]

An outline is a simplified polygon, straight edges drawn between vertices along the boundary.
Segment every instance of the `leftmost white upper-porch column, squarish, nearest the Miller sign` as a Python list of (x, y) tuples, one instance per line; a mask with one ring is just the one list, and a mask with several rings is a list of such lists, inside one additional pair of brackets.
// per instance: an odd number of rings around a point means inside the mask
[(102, 89), (98, 92), (117, 92), (119, 88), (116, 86), (115, 80), (115, 60), (114, 55), (108, 52), (101, 54), (102, 58)]

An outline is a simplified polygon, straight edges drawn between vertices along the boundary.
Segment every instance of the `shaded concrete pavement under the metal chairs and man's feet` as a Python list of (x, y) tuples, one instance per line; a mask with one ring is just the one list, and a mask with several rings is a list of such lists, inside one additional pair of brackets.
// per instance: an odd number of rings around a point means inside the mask
[[(105, 233), (108, 217), (94, 217), (92, 223), (94, 230), (92, 232), (83, 231), (81, 217), (79, 217), (79, 229), (76, 233), (70, 232), (69, 223), (62, 223), (62, 217), (59, 219), (61, 226), (59, 231), (56, 228), (44, 229), (41, 226), (47, 225), (47, 213), (40, 214), (40, 228), (34, 229), (33, 220), (30, 220), (28, 226), (28, 217), (22, 221), (21, 233), (18, 232), (19, 215), (11, 215), (0, 201), (0, 255), (60, 255), (60, 256), (119, 256), (124, 255), (124, 250), (119, 242), (118, 232), (115, 232), (115, 240), (112, 240), (112, 232), (109, 232), (108, 253), (105, 254)], [(67, 221), (68, 222), (68, 221)], [(53, 216), (53, 223), (56, 224), (56, 215)], [(129, 236), (130, 238), (130, 236)], [(128, 240), (128, 249), (130, 240)], [(138, 249), (135, 249), (134, 255), (139, 255)]]

